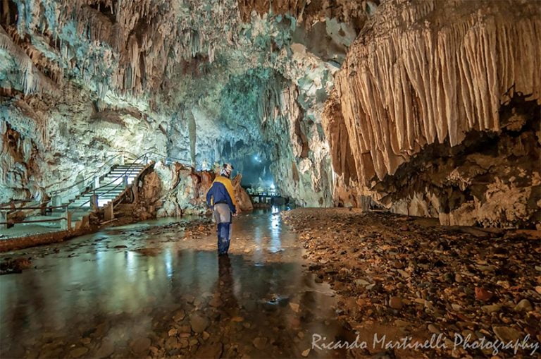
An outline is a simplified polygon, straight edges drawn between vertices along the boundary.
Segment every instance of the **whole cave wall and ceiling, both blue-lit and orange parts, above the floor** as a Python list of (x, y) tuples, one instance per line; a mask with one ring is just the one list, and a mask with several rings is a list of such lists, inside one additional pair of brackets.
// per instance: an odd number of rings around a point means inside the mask
[[(540, 221), (533, 1), (2, 4), (0, 203), (151, 151), (270, 173), (304, 206)], [(163, 171), (147, 198), (173, 190)], [(199, 212), (202, 179), (180, 177), (159, 215)]]

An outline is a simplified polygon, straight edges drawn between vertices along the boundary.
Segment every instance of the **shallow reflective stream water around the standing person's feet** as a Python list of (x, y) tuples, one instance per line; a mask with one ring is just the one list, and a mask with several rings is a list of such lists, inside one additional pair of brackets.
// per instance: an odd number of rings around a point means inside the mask
[[(157, 356), (194, 356), (208, 343), (224, 350), (218, 339), (242, 350), (230, 356), (299, 356), (311, 331), (332, 336), (334, 300), (302, 269), (296, 237), (282, 229), (280, 216), (256, 212), (240, 217), (233, 230), (234, 238), (251, 238), (261, 250), (218, 258), (216, 250), (186, 248), (182, 241), (146, 248), (156, 236), (130, 226), (63, 243), (58, 253), (36, 258), (37, 269), (0, 276), (0, 357), (59, 358), (73, 346), (94, 357), (106, 341), (126, 357), (141, 336), (151, 339)], [(138, 248), (115, 248), (125, 243)], [(280, 250), (275, 256), (281, 260), (265, 255)], [(178, 310), (185, 311), (181, 320), (173, 319)], [(210, 339), (190, 331), (193, 313), (213, 322), (206, 328)], [(179, 348), (166, 348), (171, 328), (179, 333)], [(183, 341), (182, 330), (197, 340)], [(299, 331), (306, 338), (299, 339)], [(268, 339), (264, 349), (254, 348), (256, 337)]]

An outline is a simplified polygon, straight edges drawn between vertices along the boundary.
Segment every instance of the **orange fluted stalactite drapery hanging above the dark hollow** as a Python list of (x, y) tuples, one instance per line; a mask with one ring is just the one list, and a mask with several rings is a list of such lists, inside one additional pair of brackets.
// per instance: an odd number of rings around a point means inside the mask
[[(436, 6), (444, 16), (433, 18)], [(456, 8), (388, 1), (337, 74), (362, 183), (372, 168), (380, 179), (394, 174), (427, 144), (449, 138), (454, 146), (468, 130), (498, 131), (500, 104), (516, 92), (541, 102), (539, 8), (532, 4), (528, 16), (504, 1), (465, 16)]]

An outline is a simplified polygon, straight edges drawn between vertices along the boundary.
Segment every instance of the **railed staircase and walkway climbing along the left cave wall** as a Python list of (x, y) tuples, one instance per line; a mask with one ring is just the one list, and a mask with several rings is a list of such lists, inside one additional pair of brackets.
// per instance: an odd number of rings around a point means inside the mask
[(149, 159), (160, 159), (165, 163), (169, 160), (187, 162), (154, 151), (137, 158), (119, 152), (87, 178), (49, 193), (51, 200), (13, 200), (0, 205), (0, 239), (77, 230), (88, 226), (92, 212), (102, 212), (105, 220), (113, 218), (114, 206), (123, 201), (128, 187), (154, 163)]

